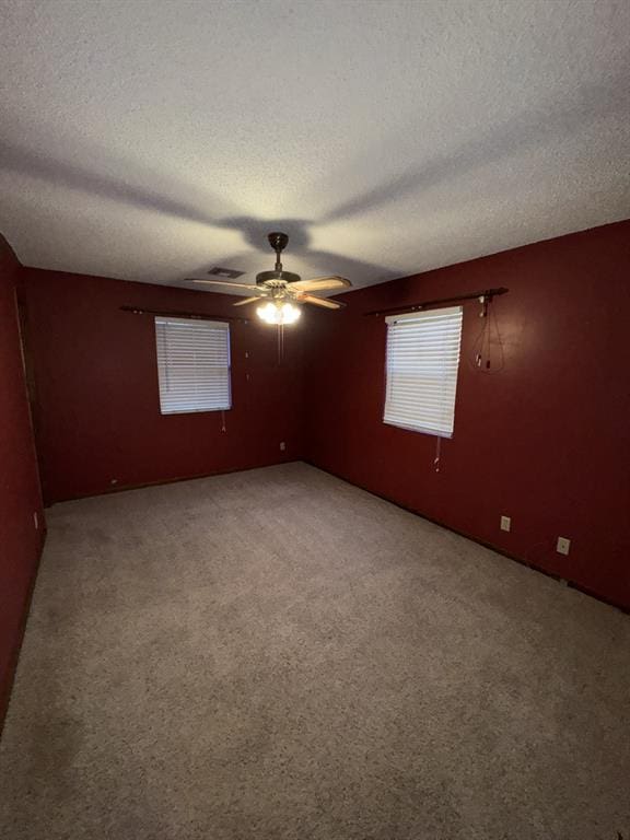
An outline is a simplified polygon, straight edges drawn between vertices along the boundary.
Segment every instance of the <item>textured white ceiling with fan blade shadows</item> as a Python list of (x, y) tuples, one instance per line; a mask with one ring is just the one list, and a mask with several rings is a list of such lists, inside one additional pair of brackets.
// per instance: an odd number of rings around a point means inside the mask
[(0, 0), (0, 231), (178, 283), (280, 229), (365, 285), (627, 218), (629, 43), (628, 0)]

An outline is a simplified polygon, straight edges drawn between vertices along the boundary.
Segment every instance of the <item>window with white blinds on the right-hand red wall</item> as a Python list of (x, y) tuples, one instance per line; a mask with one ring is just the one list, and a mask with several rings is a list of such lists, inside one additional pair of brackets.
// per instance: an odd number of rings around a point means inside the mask
[(393, 315), (387, 323), (384, 422), (453, 435), (462, 306)]

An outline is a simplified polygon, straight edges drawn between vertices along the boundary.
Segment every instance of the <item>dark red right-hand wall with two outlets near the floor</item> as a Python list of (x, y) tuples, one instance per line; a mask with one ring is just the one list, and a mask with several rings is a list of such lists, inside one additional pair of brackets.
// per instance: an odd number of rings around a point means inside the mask
[[(363, 313), (500, 285), (505, 366), (471, 364), (481, 320), (467, 305), (455, 432), (436, 474), (435, 438), (382, 422), (385, 324)], [(630, 606), (630, 221), (342, 300), (340, 318), (317, 318), (311, 335), (308, 459)]]

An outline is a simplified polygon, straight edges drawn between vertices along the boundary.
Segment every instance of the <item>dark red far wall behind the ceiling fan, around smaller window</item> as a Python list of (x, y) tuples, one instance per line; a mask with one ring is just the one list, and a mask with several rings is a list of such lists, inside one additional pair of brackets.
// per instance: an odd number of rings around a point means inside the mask
[(252, 311), (252, 323), (233, 323), (222, 432), (220, 412), (160, 413), (153, 317), (120, 306), (245, 316), (233, 298), (38, 269), (24, 278), (47, 503), (302, 456), (302, 342), (289, 328), (279, 365), (275, 328)]

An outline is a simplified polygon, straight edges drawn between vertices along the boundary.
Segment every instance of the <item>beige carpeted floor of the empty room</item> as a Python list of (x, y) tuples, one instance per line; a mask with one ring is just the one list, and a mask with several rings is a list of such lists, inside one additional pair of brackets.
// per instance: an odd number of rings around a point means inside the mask
[(630, 620), (303, 464), (56, 505), (3, 840), (630, 840)]

